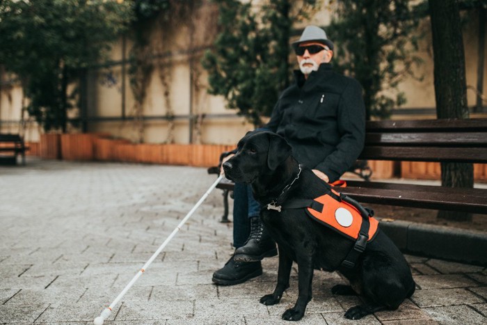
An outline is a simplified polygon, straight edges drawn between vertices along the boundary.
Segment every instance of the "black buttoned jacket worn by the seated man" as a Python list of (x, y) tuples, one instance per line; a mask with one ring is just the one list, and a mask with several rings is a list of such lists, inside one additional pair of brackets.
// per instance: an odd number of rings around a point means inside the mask
[(294, 157), (333, 182), (353, 165), (365, 138), (365, 105), (355, 79), (322, 63), (308, 79), (295, 71), (296, 83), (282, 92), (266, 125), (283, 136)]

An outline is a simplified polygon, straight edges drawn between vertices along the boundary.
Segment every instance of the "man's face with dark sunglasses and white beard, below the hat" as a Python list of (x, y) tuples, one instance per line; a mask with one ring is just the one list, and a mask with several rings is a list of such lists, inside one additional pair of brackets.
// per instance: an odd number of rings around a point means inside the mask
[(317, 71), (321, 63), (330, 62), (333, 51), (319, 42), (301, 43), (296, 51), (299, 69), (305, 77), (312, 71)]

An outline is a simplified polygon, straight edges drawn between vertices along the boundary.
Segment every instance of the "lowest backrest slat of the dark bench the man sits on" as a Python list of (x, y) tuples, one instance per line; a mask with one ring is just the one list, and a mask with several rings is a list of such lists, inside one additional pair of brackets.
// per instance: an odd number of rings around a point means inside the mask
[(487, 148), (370, 145), (365, 147), (359, 159), (487, 163)]

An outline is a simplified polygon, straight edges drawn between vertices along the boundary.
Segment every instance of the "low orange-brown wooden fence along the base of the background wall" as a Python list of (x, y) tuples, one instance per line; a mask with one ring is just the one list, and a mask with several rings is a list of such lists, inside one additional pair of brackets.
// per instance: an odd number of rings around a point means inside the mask
[[(233, 145), (130, 143), (107, 134), (42, 134), (40, 143), (28, 143), (29, 154), (47, 159), (123, 161), (143, 164), (216, 166), (221, 152)], [(421, 161), (369, 161), (373, 179), (404, 177), (439, 180), (440, 164)], [(476, 181), (487, 181), (487, 164), (474, 164)]]

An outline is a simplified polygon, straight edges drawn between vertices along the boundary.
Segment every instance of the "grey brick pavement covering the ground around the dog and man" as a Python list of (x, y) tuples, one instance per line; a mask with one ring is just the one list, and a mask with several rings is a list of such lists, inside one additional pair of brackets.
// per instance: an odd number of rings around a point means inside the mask
[[(214, 182), (205, 168), (29, 159), (0, 166), (0, 324), (93, 324)], [(184, 225), (105, 324), (289, 324), (277, 306), (277, 258), (264, 275), (217, 287), (211, 274), (232, 253), (232, 226), (216, 190)], [(315, 272), (300, 324), (486, 324), (487, 269), (406, 256), (417, 290), (394, 312), (344, 319), (357, 297), (333, 296), (344, 280)]]

